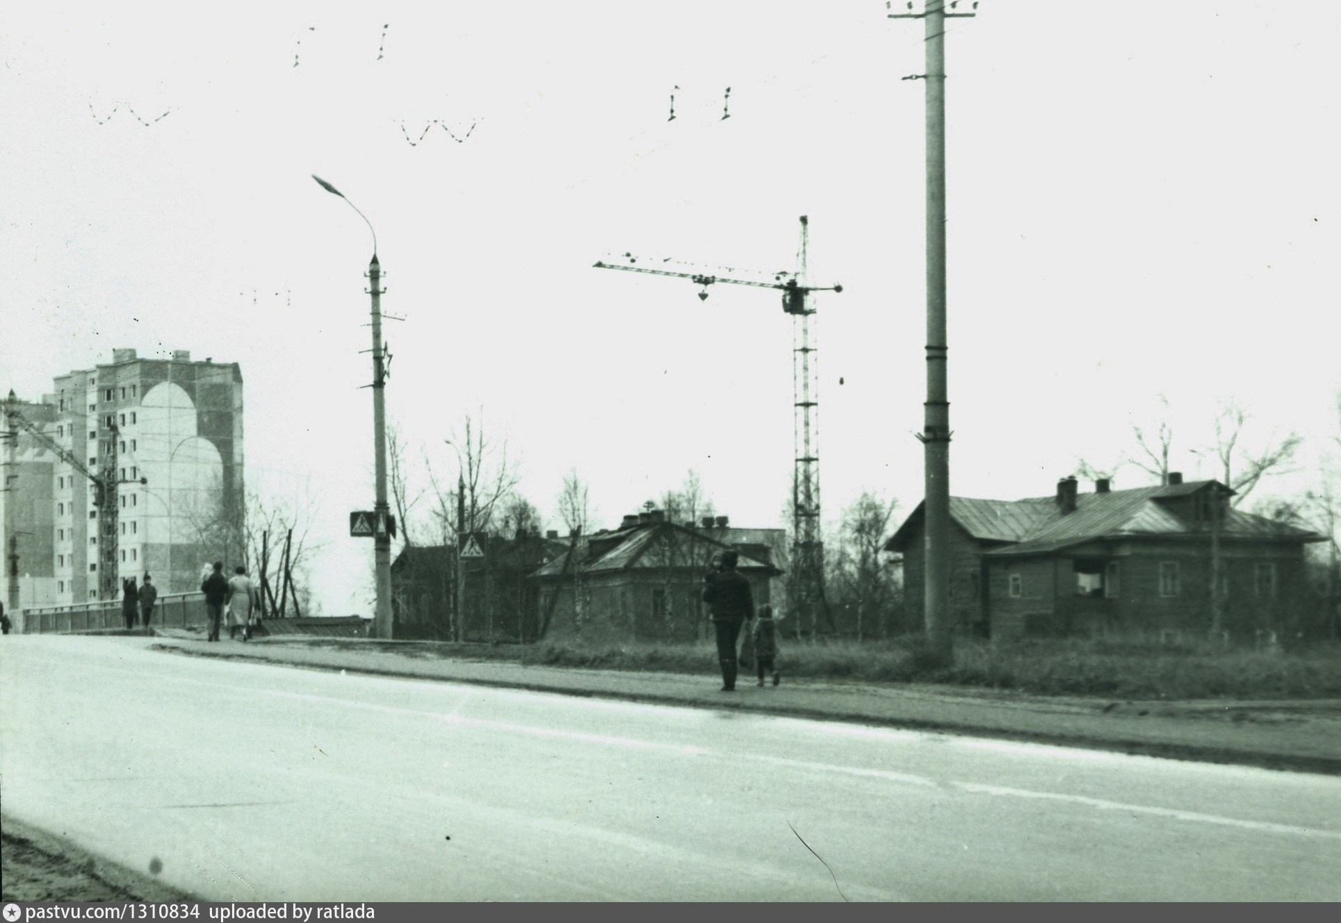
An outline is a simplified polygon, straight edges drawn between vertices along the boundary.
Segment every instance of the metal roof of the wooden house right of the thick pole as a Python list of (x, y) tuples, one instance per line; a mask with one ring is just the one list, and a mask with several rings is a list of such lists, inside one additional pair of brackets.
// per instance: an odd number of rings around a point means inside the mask
[[(1165, 505), (1199, 492), (1224, 490), (1218, 481), (1130, 488), (1081, 493), (1075, 509), (1062, 513), (1053, 497), (1026, 500), (949, 498), (949, 516), (971, 537), (999, 547), (988, 555), (1037, 555), (1102, 539), (1137, 536), (1207, 536), (1206, 524), (1185, 518)], [(904, 521), (885, 551), (898, 551), (921, 521), (923, 505)], [(915, 522), (915, 517), (919, 517)], [(1318, 541), (1321, 536), (1262, 516), (1230, 509), (1222, 536), (1287, 543)]]

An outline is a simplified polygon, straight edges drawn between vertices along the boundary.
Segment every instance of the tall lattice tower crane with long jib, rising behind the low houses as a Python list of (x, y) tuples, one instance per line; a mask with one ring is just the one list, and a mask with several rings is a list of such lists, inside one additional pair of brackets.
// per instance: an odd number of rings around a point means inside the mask
[[(597, 269), (622, 269), (653, 276), (688, 279), (701, 285), (700, 300), (708, 299), (708, 285), (728, 283), (754, 285), (782, 292), (782, 309), (791, 315), (791, 391), (793, 391), (793, 482), (791, 482), (791, 573), (789, 597), (798, 618), (810, 619), (814, 631), (815, 616), (822, 614), (833, 628), (833, 616), (825, 599), (823, 539), (819, 521), (819, 360), (815, 355), (813, 317), (814, 292), (841, 292), (842, 285), (811, 285), (809, 283), (810, 220), (801, 216), (801, 252), (797, 272), (776, 272), (771, 279), (756, 276), (742, 279), (703, 272), (668, 269), (656, 264), (640, 265), (638, 257), (622, 257), (595, 263)], [(732, 271), (734, 272), (734, 271)]]

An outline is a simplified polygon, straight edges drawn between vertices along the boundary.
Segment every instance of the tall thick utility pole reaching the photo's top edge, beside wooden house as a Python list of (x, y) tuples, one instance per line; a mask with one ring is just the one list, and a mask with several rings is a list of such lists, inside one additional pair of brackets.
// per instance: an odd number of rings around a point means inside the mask
[[(978, 4), (972, 4), (978, 8)], [(952, 652), (949, 638), (949, 393), (945, 343), (945, 20), (971, 17), (953, 12), (959, 3), (924, 0), (920, 13), (890, 13), (890, 19), (921, 19), (927, 72), (904, 78), (927, 83), (927, 402), (923, 405), (925, 466), (927, 549), (925, 619), (927, 644), (944, 659)], [(908, 4), (912, 9), (912, 4)]]

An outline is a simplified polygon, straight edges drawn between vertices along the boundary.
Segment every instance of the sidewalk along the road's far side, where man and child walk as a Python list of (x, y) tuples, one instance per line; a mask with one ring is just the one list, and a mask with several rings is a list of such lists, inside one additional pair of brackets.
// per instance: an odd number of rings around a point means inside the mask
[(449, 660), (397, 651), (397, 642), (329, 639), (224, 640), (156, 630), (156, 647), (215, 656), (374, 675), (850, 721), (1117, 750), (1177, 760), (1341, 774), (1341, 701), (1112, 702), (1043, 698), (949, 686), (874, 686), (814, 679), (734, 694), (711, 677)]

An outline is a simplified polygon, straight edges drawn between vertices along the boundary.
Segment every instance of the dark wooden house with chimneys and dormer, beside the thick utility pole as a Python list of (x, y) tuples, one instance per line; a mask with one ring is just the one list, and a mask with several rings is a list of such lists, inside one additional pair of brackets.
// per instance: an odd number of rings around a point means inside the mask
[[(1211, 624), (1211, 525), (1219, 514), (1224, 630), (1275, 630), (1305, 591), (1303, 545), (1322, 537), (1228, 505), (1218, 481), (1078, 493), (1063, 478), (1053, 497), (951, 497), (951, 618), (992, 638), (1187, 631)], [(923, 505), (885, 551), (904, 556), (905, 604), (925, 604)]]

